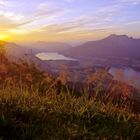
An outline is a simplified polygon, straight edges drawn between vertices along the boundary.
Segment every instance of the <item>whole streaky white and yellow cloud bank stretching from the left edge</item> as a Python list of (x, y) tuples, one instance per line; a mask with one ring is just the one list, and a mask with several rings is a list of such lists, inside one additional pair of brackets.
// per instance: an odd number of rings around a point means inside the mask
[[(65, 0), (70, 2), (71, 0)], [(72, 0), (74, 1), (74, 0)], [(77, 0), (75, 0), (77, 1)], [(8, 0), (0, 0), (2, 4), (10, 5)], [(7, 3), (6, 3), (7, 2)], [(38, 3), (36, 9), (29, 15), (17, 14), (11, 11), (0, 11), (0, 26), (1, 30), (14, 33), (29, 33), (33, 31), (42, 31), (50, 33), (65, 33), (83, 29), (91, 29), (96, 24), (107, 22), (116, 13), (119, 8), (117, 6), (100, 7), (94, 14), (79, 15), (76, 18), (67, 15), (69, 10), (63, 7), (58, 7), (48, 1)], [(73, 14), (75, 11), (70, 10)], [(68, 17), (67, 20), (61, 21)], [(57, 18), (60, 18), (59, 20)], [(53, 20), (53, 22), (51, 22)], [(59, 23), (57, 23), (57, 20)], [(57, 24), (54, 24), (57, 23)], [(90, 25), (88, 27), (88, 25)], [(95, 27), (94, 27), (95, 28)], [(27, 32), (28, 31), (28, 32)]]

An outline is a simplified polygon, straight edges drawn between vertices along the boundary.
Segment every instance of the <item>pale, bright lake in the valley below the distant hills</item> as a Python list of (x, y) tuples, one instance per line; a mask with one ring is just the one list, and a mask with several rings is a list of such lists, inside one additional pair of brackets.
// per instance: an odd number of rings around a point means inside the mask
[(62, 54), (59, 54), (57, 52), (43, 52), (43, 53), (38, 53), (36, 55), (40, 60), (71, 60), (71, 61), (76, 61), (76, 59), (66, 57)]

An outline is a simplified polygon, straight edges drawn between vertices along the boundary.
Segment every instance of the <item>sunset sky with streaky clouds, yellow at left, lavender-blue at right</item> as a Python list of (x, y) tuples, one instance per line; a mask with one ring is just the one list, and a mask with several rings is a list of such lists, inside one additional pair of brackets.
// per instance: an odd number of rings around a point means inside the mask
[(140, 0), (0, 0), (0, 40), (140, 38)]

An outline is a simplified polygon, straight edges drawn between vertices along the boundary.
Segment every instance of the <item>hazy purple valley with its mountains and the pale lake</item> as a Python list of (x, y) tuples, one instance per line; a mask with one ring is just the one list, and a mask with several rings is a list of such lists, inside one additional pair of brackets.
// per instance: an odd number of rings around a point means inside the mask
[[(128, 68), (140, 72), (140, 39), (126, 35), (110, 35), (97, 41), (89, 41), (80, 46), (62, 42), (36, 42), (17, 45), (7, 43), (9, 57), (35, 62), (40, 69), (58, 75), (66, 67), (70, 81), (76, 77), (81, 81), (87, 73), (97, 69)], [(25, 45), (25, 46), (24, 46)], [(129, 79), (134, 80), (135, 77)], [(138, 87), (138, 86), (137, 86)]]

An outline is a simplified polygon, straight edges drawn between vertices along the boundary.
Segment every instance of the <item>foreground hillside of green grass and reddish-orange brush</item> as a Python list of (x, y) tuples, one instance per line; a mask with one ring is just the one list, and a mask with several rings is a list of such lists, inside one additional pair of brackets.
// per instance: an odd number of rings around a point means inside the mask
[(54, 78), (34, 63), (0, 58), (0, 140), (140, 139), (140, 114), (127, 98), (135, 90), (107, 71), (89, 75), (77, 93), (65, 72)]

